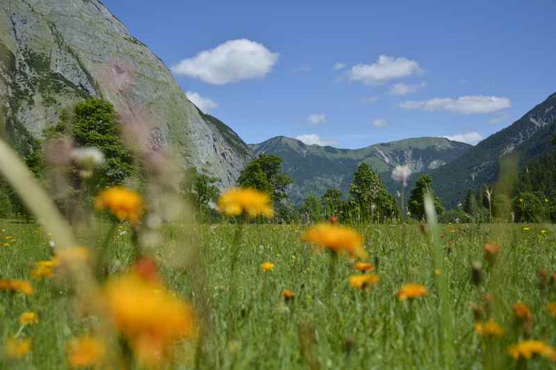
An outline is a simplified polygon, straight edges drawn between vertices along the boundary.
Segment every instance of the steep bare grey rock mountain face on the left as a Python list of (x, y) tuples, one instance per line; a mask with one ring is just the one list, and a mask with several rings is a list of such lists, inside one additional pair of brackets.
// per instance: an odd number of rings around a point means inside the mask
[(0, 135), (23, 154), (88, 96), (146, 144), (234, 183), (250, 149), (191, 103), (164, 63), (98, 0), (0, 1)]

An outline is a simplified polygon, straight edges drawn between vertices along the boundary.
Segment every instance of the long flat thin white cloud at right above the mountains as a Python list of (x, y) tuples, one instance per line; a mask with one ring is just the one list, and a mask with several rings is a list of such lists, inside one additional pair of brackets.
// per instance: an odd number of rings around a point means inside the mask
[(457, 99), (434, 98), (424, 101), (404, 101), (400, 107), (404, 109), (446, 110), (463, 115), (477, 115), (499, 112), (512, 106), (512, 101), (499, 96), (461, 96)]

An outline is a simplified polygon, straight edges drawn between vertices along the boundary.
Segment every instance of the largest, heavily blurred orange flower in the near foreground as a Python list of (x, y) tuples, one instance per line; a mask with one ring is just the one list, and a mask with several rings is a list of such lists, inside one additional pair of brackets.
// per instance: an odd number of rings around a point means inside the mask
[(172, 344), (197, 337), (193, 308), (161, 283), (125, 274), (108, 281), (106, 298), (116, 328), (143, 364), (160, 364)]

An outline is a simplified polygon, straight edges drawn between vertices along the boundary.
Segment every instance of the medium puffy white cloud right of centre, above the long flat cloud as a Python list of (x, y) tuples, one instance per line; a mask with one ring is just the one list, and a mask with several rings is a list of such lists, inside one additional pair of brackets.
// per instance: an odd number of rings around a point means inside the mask
[(415, 60), (396, 58), (393, 56), (379, 56), (377, 62), (351, 67), (349, 77), (352, 81), (359, 81), (365, 85), (384, 83), (395, 78), (408, 77), (423, 72)]

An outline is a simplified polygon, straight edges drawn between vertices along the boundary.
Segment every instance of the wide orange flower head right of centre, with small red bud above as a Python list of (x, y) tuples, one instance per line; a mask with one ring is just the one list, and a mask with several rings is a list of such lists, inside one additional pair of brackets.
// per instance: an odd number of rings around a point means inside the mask
[(335, 253), (346, 252), (353, 257), (367, 258), (367, 252), (363, 249), (363, 238), (352, 228), (327, 223), (317, 224), (309, 228), (302, 235), (302, 239)]

